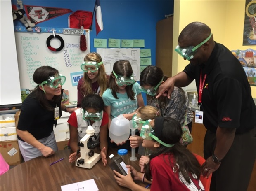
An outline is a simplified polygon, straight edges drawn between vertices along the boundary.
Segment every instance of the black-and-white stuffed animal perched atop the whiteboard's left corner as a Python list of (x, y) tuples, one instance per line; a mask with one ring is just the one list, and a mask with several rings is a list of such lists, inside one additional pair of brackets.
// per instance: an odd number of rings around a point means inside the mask
[(26, 27), (27, 31), (33, 31), (32, 28), (35, 27), (36, 25), (34, 23), (31, 23), (31, 21), (28, 19), (27, 16), (25, 16), (25, 11), (23, 9), (23, 4), (21, 0), (17, 0), (17, 5), (19, 5), (19, 9), (15, 6), (12, 5), (12, 18), (14, 21), (19, 20), (21, 23), (24, 24)]

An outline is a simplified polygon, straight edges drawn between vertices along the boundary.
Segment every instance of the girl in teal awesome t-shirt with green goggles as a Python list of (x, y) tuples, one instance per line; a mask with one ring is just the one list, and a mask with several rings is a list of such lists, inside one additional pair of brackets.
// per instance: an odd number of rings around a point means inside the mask
[[(109, 78), (109, 88), (102, 95), (105, 111), (109, 115), (109, 126), (111, 120), (121, 114), (131, 120), (138, 107), (144, 106), (139, 87), (130, 62), (116, 61)], [(127, 144), (130, 147), (130, 143)]]

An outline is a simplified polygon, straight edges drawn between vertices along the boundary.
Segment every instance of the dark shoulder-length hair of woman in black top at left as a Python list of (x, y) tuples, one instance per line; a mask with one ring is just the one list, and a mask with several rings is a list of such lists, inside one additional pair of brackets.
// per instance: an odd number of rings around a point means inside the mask
[[(59, 71), (55, 68), (50, 66), (41, 66), (37, 68), (33, 74), (33, 80), (36, 84), (40, 84), (43, 81), (47, 81), (49, 76), (53, 76), (59, 74)], [(45, 84), (44, 84), (45, 85)], [(45, 93), (43, 90), (40, 89), (39, 85), (33, 91), (35, 98), (40, 102), (41, 107), (45, 108), (46, 110), (53, 111), (54, 107), (52, 107), (49, 101), (46, 99)], [(62, 99), (62, 94), (53, 97), (53, 102), (57, 103), (59, 100)]]

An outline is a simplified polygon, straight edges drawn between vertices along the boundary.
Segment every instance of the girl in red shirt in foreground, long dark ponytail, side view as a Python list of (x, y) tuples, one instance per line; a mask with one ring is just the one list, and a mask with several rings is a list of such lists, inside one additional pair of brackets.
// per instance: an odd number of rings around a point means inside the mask
[(181, 134), (180, 124), (170, 117), (147, 120), (140, 133), (144, 139), (142, 146), (152, 149), (145, 173), (127, 166), (127, 176), (114, 171), (116, 182), (133, 191), (147, 190), (133, 182), (132, 172), (134, 180), (151, 183), (153, 191), (204, 191), (199, 180), (201, 167), (195, 156), (179, 143)]

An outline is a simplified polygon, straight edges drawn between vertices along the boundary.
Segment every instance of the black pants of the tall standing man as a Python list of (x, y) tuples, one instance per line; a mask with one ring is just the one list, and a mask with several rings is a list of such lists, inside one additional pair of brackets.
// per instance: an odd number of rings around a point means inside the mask
[[(213, 154), (216, 133), (206, 131), (204, 158)], [(210, 191), (247, 191), (256, 158), (256, 128), (235, 135), (233, 144), (223, 158), (220, 167), (213, 172)]]

